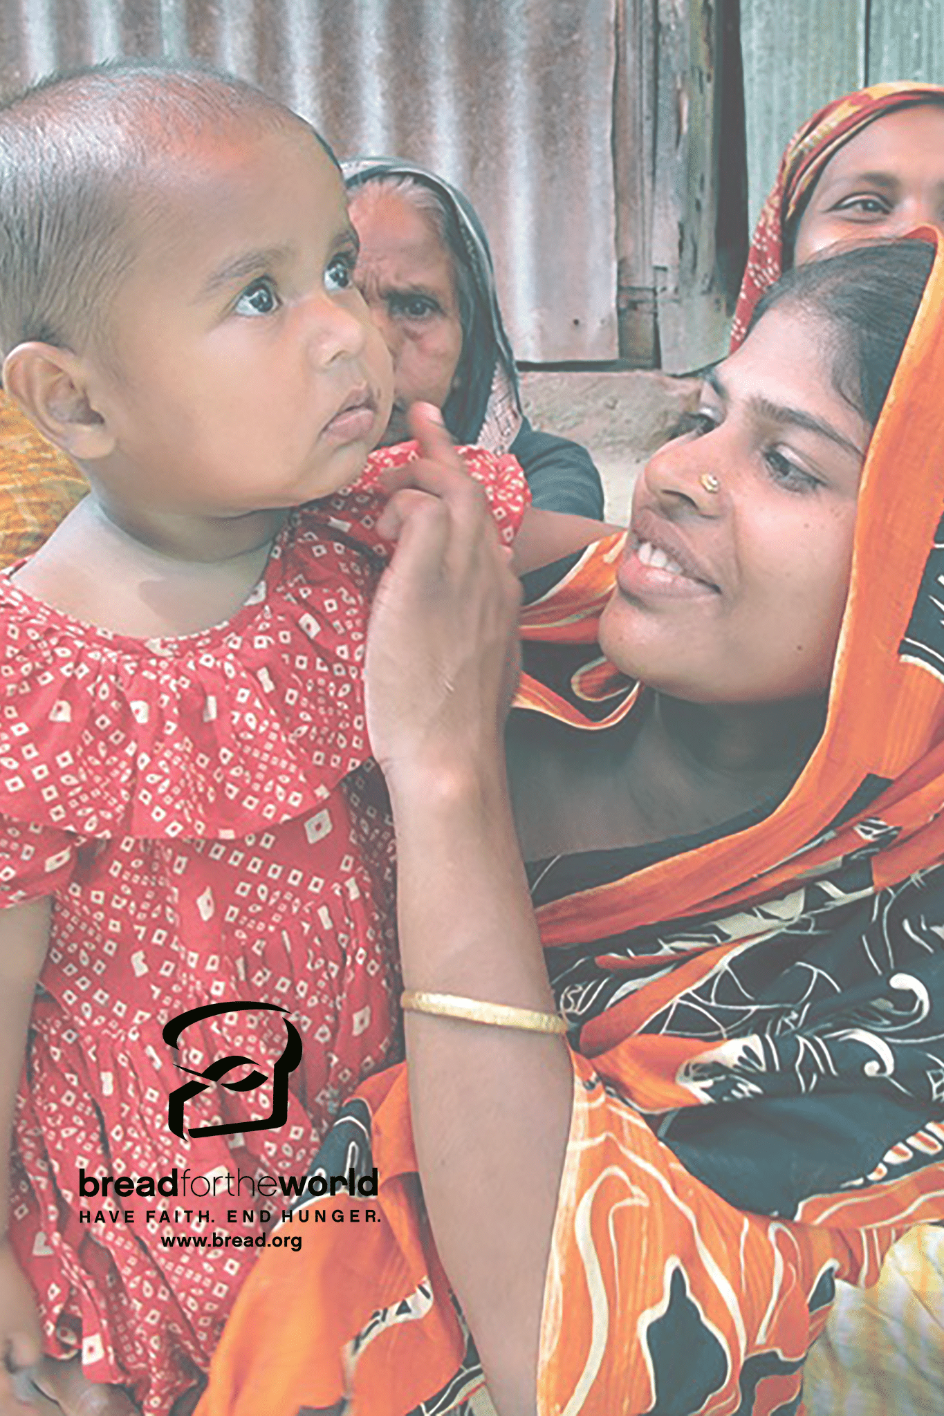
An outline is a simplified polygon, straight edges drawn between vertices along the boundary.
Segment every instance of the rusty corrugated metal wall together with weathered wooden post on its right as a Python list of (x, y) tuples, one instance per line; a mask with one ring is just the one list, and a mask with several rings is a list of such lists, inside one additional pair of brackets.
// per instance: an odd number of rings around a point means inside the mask
[(338, 154), (412, 157), (467, 191), (521, 360), (647, 364), (661, 346), (685, 368), (713, 351), (725, 314), (715, 11), (712, 0), (0, 0), (0, 89), (123, 54), (208, 59), (297, 109)]

